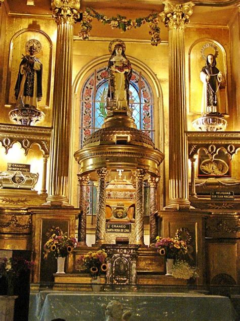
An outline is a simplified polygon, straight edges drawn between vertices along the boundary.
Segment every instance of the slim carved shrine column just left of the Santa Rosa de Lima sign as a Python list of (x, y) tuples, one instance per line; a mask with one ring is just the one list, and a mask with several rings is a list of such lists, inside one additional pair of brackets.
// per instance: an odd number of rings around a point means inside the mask
[(108, 171), (106, 168), (101, 168), (96, 172), (99, 176), (99, 181), (95, 244), (102, 244), (104, 243), (106, 232), (106, 176)]

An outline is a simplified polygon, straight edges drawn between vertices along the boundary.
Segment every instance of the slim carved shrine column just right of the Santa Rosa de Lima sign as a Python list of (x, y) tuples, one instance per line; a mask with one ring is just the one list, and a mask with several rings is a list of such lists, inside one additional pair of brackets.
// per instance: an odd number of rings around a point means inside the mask
[(146, 171), (138, 169), (133, 172), (136, 178), (136, 215), (135, 244), (144, 244), (143, 240), (143, 178)]

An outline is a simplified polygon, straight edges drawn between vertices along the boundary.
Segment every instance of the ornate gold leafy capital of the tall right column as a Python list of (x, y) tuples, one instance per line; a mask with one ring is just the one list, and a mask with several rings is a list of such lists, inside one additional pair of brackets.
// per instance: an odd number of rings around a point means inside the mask
[(164, 11), (159, 14), (166, 27), (184, 28), (185, 24), (189, 23), (189, 17), (191, 16), (194, 6), (193, 2), (185, 2), (184, 4), (176, 4), (167, 0), (164, 1)]

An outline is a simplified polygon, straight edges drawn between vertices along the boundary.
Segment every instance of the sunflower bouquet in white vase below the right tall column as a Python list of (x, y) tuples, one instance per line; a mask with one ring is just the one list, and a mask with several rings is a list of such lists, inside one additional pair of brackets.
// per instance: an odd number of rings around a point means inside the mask
[(187, 253), (187, 244), (183, 240), (170, 237), (156, 237), (155, 246), (159, 254), (166, 255), (167, 259), (176, 259)]

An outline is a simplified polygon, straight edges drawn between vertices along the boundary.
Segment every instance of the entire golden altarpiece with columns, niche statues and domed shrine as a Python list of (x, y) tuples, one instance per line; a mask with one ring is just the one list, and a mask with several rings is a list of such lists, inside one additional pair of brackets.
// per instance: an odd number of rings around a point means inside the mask
[[(171, 237), (195, 285), (239, 285), (238, 2), (23, 3), (0, 1), (0, 253), (36, 288), (87, 284), (99, 249), (102, 283), (186, 285), (155, 247)], [(77, 237), (65, 274), (53, 226)]]

